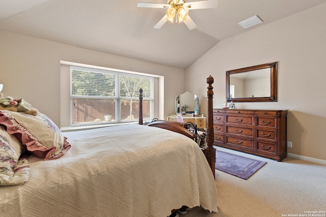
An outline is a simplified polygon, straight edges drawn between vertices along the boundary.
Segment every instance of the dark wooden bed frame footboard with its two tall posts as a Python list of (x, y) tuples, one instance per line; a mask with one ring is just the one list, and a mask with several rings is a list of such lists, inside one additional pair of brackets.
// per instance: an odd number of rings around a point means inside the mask
[[(207, 138), (207, 147), (202, 148), (205, 157), (208, 161), (209, 167), (211, 168), (211, 171), (213, 173), (213, 176), (215, 178), (215, 151), (216, 149), (213, 147), (214, 142), (214, 129), (213, 129), (213, 87), (212, 83), (214, 82), (213, 77), (209, 76), (206, 79), (206, 82), (208, 84), (207, 87), (207, 131), (206, 131), (206, 138)], [(141, 88), (139, 90), (139, 124), (143, 125), (143, 89)], [(185, 135), (191, 139), (195, 139), (197, 137), (196, 134), (193, 132), (177, 125), (176, 123), (173, 123), (171, 121), (154, 121), (149, 123), (147, 126), (150, 127), (158, 127), (163, 128), (166, 130), (174, 131), (177, 133), (180, 133), (182, 135)]]

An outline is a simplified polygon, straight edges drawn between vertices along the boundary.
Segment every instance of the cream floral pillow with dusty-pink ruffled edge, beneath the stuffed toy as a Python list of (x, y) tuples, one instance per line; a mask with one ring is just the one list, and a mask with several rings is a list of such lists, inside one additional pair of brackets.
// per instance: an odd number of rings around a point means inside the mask
[(70, 144), (60, 129), (46, 115), (39, 112), (37, 116), (0, 110), (0, 124), (6, 126), (10, 135), (15, 135), (26, 150), (45, 160), (63, 156)]

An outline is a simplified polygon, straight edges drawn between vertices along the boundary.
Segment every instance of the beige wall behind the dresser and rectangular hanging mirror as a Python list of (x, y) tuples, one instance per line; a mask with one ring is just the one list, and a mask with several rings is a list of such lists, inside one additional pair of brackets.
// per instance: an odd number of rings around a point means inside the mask
[(225, 98), (225, 72), (278, 61), (278, 102), (235, 103), (243, 109), (289, 109), (289, 153), (326, 160), (326, 4), (223, 40), (186, 70), (186, 89), (206, 110), (214, 78), (214, 108)]

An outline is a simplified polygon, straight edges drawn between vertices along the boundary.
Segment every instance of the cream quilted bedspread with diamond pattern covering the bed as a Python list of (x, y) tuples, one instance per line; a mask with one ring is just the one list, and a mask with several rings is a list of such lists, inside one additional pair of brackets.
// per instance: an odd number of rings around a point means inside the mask
[(182, 205), (218, 212), (215, 181), (193, 140), (127, 125), (64, 134), (63, 157), (29, 158), (22, 185), (0, 187), (0, 216), (168, 216)]

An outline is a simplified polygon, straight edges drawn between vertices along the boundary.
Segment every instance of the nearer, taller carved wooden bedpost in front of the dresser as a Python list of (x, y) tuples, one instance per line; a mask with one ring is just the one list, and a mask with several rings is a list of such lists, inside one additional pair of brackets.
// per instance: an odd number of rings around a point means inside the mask
[(214, 82), (214, 78), (209, 76), (206, 79), (208, 83), (207, 87), (207, 147), (205, 148), (205, 156), (208, 161), (208, 164), (213, 172), (215, 178), (215, 151), (216, 149), (213, 147), (214, 142), (214, 129), (213, 129), (213, 87), (212, 83)]

